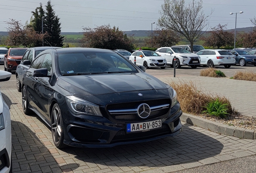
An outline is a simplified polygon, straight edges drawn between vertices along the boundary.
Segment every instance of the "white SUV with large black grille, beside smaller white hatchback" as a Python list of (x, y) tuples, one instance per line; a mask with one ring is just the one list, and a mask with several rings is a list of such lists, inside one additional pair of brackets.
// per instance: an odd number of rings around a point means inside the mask
[(185, 65), (191, 66), (191, 68), (200, 66), (200, 57), (181, 47), (161, 47), (158, 48), (156, 52), (163, 56), (167, 60), (167, 64), (171, 66), (174, 64), (175, 57), (175, 68), (180, 68)]

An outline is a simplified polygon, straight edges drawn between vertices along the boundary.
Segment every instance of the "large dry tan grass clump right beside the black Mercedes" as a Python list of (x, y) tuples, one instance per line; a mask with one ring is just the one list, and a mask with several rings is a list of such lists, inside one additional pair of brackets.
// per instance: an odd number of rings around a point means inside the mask
[[(202, 88), (198, 89), (192, 81), (189, 83), (172, 81), (170, 82), (170, 86), (177, 92), (178, 101), (180, 102), (181, 109), (184, 113), (192, 115), (202, 114), (203, 111), (207, 110), (206, 107), (209, 103), (217, 100), (221, 105), (225, 104), (227, 114), (234, 113), (230, 101), (225, 96), (217, 94), (213, 95), (206, 90), (203, 91)], [(221, 108), (221, 110), (223, 110), (223, 108)]]

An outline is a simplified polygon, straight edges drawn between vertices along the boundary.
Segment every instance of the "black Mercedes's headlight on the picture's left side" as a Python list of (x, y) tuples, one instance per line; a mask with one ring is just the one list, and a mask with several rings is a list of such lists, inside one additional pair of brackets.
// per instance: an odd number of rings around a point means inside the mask
[(66, 96), (66, 101), (70, 111), (76, 115), (86, 114), (103, 117), (99, 110), (99, 106), (89, 101), (85, 101), (75, 96)]

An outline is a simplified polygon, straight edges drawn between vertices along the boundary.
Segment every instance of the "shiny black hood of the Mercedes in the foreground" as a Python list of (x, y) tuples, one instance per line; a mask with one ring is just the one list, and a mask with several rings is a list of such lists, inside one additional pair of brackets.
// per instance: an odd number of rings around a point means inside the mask
[(59, 76), (57, 84), (70, 93), (78, 95), (102, 95), (168, 88), (161, 80), (147, 73)]

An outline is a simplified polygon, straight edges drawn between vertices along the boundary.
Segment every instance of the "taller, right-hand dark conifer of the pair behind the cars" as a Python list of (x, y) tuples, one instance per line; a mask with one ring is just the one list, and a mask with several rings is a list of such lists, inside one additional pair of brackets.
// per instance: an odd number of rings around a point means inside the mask
[(44, 19), (44, 26), (43, 30), (47, 32), (47, 38), (44, 39), (45, 46), (63, 46), (63, 38), (61, 36), (61, 28), (60, 28), (60, 18), (55, 15), (53, 10), (53, 6), (51, 5), (51, 1), (47, 2), (46, 12), (45, 12), (45, 19)]

